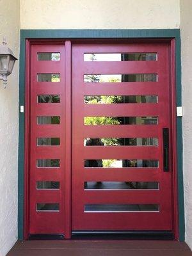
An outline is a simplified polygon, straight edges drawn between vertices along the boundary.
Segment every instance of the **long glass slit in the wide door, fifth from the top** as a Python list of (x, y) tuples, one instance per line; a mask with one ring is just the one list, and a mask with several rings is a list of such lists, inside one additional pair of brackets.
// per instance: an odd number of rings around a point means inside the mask
[(158, 146), (158, 138), (85, 138), (84, 146)]

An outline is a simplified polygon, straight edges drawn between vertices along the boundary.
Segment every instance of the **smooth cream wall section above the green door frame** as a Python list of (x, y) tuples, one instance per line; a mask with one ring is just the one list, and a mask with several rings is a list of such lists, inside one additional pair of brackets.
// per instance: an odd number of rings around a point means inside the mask
[(179, 28), (179, 0), (20, 0), (21, 29)]

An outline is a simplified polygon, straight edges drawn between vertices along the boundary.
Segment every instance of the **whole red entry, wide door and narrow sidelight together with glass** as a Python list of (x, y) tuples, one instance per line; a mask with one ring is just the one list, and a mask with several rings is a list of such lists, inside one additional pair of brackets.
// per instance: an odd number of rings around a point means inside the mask
[(173, 232), (168, 43), (30, 52), (28, 234)]

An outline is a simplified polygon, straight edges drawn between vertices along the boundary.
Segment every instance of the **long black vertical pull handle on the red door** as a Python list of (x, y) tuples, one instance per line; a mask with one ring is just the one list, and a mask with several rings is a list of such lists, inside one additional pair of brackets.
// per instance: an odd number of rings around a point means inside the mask
[(169, 163), (169, 129), (163, 128), (163, 171), (170, 171)]

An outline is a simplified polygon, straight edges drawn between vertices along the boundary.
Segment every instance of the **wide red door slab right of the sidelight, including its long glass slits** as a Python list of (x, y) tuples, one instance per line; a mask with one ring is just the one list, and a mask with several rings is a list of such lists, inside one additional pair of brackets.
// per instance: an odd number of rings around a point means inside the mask
[[(170, 129), (168, 63), (166, 43), (72, 46), (73, 231), (173, 230), (172, 166), (163, 141), (163, 128)], [(158, 100), (138, 103), (141, 95)], [(145, 145), (145, 138), (158, 143)]]

